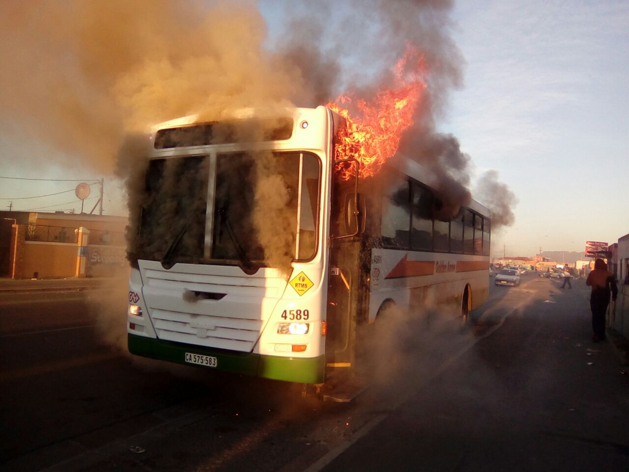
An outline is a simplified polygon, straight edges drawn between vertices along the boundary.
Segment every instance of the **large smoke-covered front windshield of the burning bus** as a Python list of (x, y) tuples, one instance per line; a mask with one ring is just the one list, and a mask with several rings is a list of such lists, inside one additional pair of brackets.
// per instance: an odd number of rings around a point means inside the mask
[[(291, 222), (292, 259), (311, 259), (318, 228), (318, 157), (277, 152), (272, 166), (255, 159), (255, 154), (240, 152), (218, 154), (215, 166), (209, 156), (151, 160), (138, 259), (162, 260), (168, 253), (169, 266), (176, 262), (267, 266), (260, 227), (281, 230), (286, 222)], [(214, 189), (209, 205), (208, 182)], [(262, 185), (272, 188), (263, 190)], [(274, 193), (282, 193), (282, 208), (266, 211), (260, 195)]]

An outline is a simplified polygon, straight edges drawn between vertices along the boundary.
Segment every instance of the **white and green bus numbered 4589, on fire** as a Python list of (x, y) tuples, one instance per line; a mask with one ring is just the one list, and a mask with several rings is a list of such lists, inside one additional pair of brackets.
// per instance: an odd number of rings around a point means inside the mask
[[(484, 206), (440, 216), (439, 195), (411, 161), (366, 178), (355, 166), (343, 179), (335, 167), (353, 162), (335, 160), (345, 121), (323, 106), (287, 111), (259, 142), (235, 138), (262, 121), (183, 118), (153, 133), (130, 227), (131, 353), (321, 384), (360, 366), (357, 330), (386, 306), (430, 298), (465, 319), (486, 299)], [(265, 261), (252, 227), (260, 152), (277, 159), (289, 189), (289, 274)]]

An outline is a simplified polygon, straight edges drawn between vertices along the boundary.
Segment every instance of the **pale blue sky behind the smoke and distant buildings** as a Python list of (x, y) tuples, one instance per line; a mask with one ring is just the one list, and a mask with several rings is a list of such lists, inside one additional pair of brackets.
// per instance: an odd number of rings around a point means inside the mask
[[(272, 43), (291, 11), (259, 4)], [(493, 234), (493, 255), (582, 251), (586, 240), (612, 243), (629, 233), (629, 3), (459, 1), (450, 16), (465, 64), (437, 129), (454, 134), (469, 154), (472, 189), (495, 169), (518, 199), (515, 224)], [(371, 72), (358, 56), (343, 59), (357, 76)], [(0, 147), (0, 176), (104, 177), (104, 214), (126, 214), (123, 184), (82, 166), (80, 157), (72, 167), (25, 166), (19, 156), (57, 151), (36, 137), (16, 143), (6, 130)], [(0, 208), (11, 201), (15, 210), (78, 212), (77, 183), (0, 178)], [(86, 211), (96, 203), (98, 186), (91, 189)]]

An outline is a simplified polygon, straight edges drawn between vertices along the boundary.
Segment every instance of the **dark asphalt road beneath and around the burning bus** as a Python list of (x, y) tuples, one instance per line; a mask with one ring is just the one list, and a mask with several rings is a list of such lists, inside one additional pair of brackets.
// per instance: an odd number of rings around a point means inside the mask
[(123, 288), (4, 293), (0, 469), (626, 470), (629, 374), (573, 286), (492, 286), (467, 327), (414, 313), (350, 404), (129, 356)]

